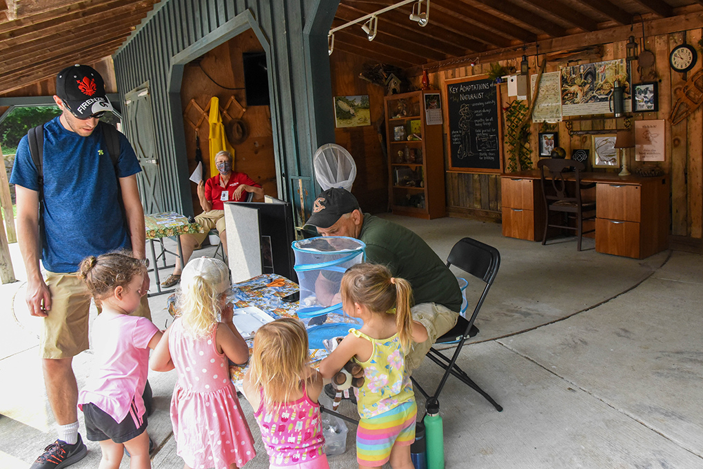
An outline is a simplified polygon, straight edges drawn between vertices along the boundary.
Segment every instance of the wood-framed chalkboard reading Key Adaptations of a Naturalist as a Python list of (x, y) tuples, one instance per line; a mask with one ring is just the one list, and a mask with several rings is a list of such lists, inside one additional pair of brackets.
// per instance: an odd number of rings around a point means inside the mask
[(446, 81), (449, 169), (501, 172), (500, 98), (496, 80)]

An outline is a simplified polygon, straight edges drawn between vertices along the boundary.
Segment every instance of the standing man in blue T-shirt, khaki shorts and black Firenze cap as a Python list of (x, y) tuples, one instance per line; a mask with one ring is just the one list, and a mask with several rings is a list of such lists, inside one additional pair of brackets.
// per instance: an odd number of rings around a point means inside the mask
[[(86, 65), (66, 68), (56, 77), (53, 99), (62, 114), (44, 124), (44, 184), (39, 186), (27, 136), (20, 141), (11, 176), (18, 240), (27, 269), (27, 305), (32, 316), (44, 321), (40, 345), (44, 384), (58, 425), (58, 439), (32, 469), (63, 468), (86, 455), (78, 435), (78, 387), (72, 368), (73, 356), (89, 348), (90, 294), (77, 276), (79, 262), (120, 249), (131, 249), (134, 257), (144, 259), (146, 247), (136, 184), (138, 160), (127, 138), (119, 134), (120, 156), (113, 165), (104, 127), (98, 126), (99, 117), (112, 110), (103, 78)], [(147, 276), (141, 290), (146, 292), (148, 284)], [(134, 314), (150, 318), (146, 296)]]

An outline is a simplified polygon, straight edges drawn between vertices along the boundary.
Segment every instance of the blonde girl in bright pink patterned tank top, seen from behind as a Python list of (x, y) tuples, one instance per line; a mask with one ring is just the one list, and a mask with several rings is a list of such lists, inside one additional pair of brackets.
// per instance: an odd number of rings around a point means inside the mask
[(243, 390), (255, 410), (270, 468), (329, 468), (317, 402), (322, 377), (309, 364), (307, 332), (297, 319), (265, 324), (254, 336)]

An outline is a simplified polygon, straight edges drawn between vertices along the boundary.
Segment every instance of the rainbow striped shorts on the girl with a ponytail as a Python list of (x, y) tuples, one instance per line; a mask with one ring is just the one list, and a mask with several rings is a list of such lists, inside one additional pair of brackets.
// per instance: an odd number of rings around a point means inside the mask
[(362, 418), (356, 430), (356, 461), (361, 465), (384, 465), (394, 444), (409, 446), (415, 441), (415, 400), (404, 402), (375, 417)]

